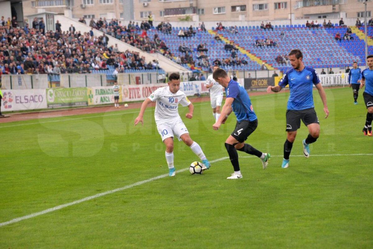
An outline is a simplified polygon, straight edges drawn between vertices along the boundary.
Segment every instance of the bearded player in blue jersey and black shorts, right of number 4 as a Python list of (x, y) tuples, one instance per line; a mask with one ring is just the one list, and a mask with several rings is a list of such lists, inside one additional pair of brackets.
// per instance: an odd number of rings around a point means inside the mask
[(300, 128), (301, 120), (308, 128), (308, 136), (302, 141), (303, 153), (306, 158), (310, 156), (309, 144), (316, 142), (320, 134), (319, 118), (317, 118), (313, 105), (313, 85), (319, 91), (324, 104), (325, 118), (329, 116), (326, 104), (325, 91), (320, 84), (319, 75), (316, 71), (303, 64), (303, 54), (299, 49), (293, 49), (289, 53), (289, 60), (293, 69), (283, 75), (279, 85), (267, 87), (267, 92), (279, 92), (289, 84), (290, 96), (286, 110), (286, 141), (283, 145), (282, 168), (289, 167), (289, 156), (297, 130)]

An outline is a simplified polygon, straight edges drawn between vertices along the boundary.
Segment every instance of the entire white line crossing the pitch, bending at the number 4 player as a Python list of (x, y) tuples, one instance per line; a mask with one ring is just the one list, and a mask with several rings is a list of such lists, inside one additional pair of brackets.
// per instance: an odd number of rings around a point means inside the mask
[[(334, 155), (330, 154), (330, 155), (311, 155), (311, 156), (372, 156), (372, 155), (373, 154), (334, 154)], [(294, 156), (303, 156), (303, 155), (294, 155)], [(292, 157), (294, 157), (294, 156), (292, 156)], [(282, 155), (281, 156), (271, 156), (271, 157), (282, 157)], [(240, 156), (240, 158), (256, 158), (256, 156)], [(211, 161), (211, 163), (223, 161), (225, 159), (228, 159), (228, 157), (222, 157), (222, 158), (215, 159), (215, 160)], [(176, 173), (183, 172), (183, 171), (186, 171), (188, 169), (189, 168), (179, 169), (179, 170), (176, 171)], [(87, 200), (92, 200), (92, 199), (95, 199), (95, 198), (98, 198), (98, 197), (101, 197), (101, 196), (105, 196), (107, 194), (112, 194), (112, 193), (119, 192), (119, 191), (122, 191), (122, 190), (125, 190), (125, 189), (130, 189), (132, 187), (136, 187), (136, 186), (142, 185), (144, 183), (149, 183), (151, 181), (158, 180), (158, 179), (161, 179), (161, 178), (164, 178), (164, 177), (167, 177), (167, 176), (168, 176), (168, 174), (159, 175), (159, 176), (156, 176), (156, 177), (144, 180), (144, 181), (138, 181), (137, 183), (133, 183), (133, 184), (130, 184), (130, 185), (118, 188), (118, 189), (113, 189), (113, 190), (109, 190), (109, 191), (106, 191), (106, 192), (103, 192), (103, 193), (91, 195), (91, 196), (88, 196), (88, 197), (85, 197), (85, 198), (82, 198), (82, 199), (79, 199), (79, 200), (75, 200), (73, 202), (69, 202), (69, 203), (66, 203), (66, 204), (55, 206), (53, 208), (48, 208), (48, 209), (45, 209), (45, 210), (40, 211), (40, 212), (36, 212), (36, 213), (33, 213), (33, 214), (18, 217), (18, 218), (15, 218), (13, 220), (10, 220), (10, 221), (5, 221), (5, 222), (0, 223), (0, 227), (3, 227), (5, 225), (10, 225), (10, 224), (13, 224), (13, 223), (16, 223), (16, 222), (19, 222), (19, 221), (27, 220), (27, 219), (30, 219), (30, 218), (34, 218), (34, 217), (37, 217), (39, 215), (47, 214), (47, 213), (50, 213), (50, 212), (53, 212), (53, 211), (56, 211), (56, 210), (59, 210), (59, 209), (62, 209), (62, 208), (66, 208), (68, 206), (72, 206), (72, 205), (75, 205), (75, 204), (79, 204), (81, 202), (85, 202)]]

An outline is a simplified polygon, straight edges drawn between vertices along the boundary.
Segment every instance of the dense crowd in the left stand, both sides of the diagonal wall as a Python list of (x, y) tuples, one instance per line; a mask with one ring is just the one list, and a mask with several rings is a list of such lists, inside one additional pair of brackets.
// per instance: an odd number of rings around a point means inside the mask
[[(84, 23), (84, 19), (79, 21)], [(147, 37), (134, 35), (126, 27), (112, 25), (114, 20), (108, 24), (104, 20), (98, 23), (96, 28), (110, 35), (119, 34), (121, 40), (129, 44), (144, 50), (157, 48), (155, 39), (149, 41)], [(45, 32), (43, 19), (34, 19), (32, 27), (28, 24), (24, 28), (0, 25), (0, 73), (58, 75), (107, 70), (108, 66), (117, 68), (118, 72), (159, 68), (156, 61), (146, 63), (145, 57), (138, 52), (119, 52), (117, 45), (108, 46), (109, 37), (105, 34), (98, 37), (93, 36), (93, 32), (82, 34), (73, 26), (69, 31), (61, 31), (59, 21), (56, 27), (55, 32)]]

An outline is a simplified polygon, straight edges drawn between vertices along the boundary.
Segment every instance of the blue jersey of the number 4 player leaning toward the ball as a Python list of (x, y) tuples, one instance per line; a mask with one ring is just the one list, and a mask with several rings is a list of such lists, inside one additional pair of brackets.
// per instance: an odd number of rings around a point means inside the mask
[(249, 94), (241, 84), (236, 81), (230, 80), (228, 87), (225, 88), (227, 98), (233, 98), (232, 109), (237, 117), (237, 121), (244, 120), (254, 121), (257, 116), (251, 105)]

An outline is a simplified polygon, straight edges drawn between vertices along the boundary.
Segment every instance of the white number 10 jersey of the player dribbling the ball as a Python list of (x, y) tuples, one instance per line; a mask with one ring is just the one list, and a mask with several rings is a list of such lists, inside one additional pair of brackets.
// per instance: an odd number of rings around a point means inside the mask
[(154, 118), (157, 125), (180, 118), (178, 105), (188, 106), (191, 103), (183, 91), (171, 93), (169, 86), (158, 88), (150, 94), (148, 99), (156, 102)]

